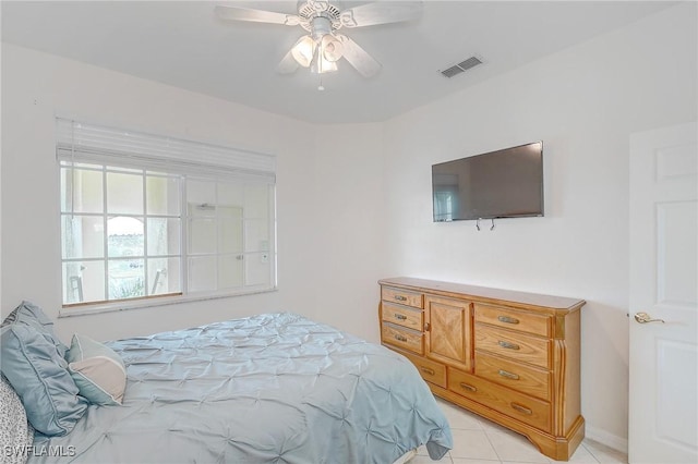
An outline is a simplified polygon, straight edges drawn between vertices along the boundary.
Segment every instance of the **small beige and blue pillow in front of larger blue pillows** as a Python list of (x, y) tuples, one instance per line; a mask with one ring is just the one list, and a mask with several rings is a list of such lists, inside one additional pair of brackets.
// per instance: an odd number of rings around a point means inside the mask
[(113, 350), (75, 333), (65, 359), (80, 394), (94, 404), (121, 404), (127, 368)]

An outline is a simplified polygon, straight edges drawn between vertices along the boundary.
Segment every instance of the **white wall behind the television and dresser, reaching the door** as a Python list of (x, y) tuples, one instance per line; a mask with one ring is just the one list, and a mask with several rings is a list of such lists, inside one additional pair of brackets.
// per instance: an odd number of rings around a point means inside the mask
[[(389, 273), (586, 300), (582, 414), (588, 436), (617, 448), (627, 438), (628, 137), (696, 119), (696, 44), (691, 2), (386, 123)], [(544, 218), (500, 220), (492, 232), (432, 222), (432, 163), (538, 139)]]

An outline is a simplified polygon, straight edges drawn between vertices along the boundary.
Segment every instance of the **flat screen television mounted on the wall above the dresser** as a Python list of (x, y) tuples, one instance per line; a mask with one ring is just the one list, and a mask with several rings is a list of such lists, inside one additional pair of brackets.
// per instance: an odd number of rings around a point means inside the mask
[(434, 222), (543, 216), (543, 143), (432, 166)]

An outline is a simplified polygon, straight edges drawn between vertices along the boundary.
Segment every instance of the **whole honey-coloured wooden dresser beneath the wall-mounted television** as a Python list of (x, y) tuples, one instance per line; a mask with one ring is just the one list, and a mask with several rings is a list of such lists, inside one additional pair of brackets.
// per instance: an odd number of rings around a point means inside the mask
[(583, 301), (413, 278), (378, 283), (382, 343), (409, 358), (435, 395), (569, 459), (585, 436)]

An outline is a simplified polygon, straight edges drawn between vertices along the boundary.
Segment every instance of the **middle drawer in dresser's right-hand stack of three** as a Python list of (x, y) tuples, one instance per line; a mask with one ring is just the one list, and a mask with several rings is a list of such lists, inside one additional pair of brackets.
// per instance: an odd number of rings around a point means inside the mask
[(476, 350), (505, 356), (514, 361), (530, 363), (543, 368), (550, 367), (550, 344), (547, 339), (526, 335), (510, 330), (476, 325)]

